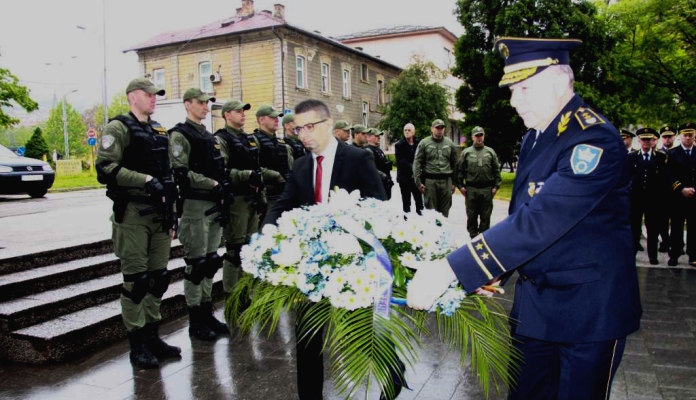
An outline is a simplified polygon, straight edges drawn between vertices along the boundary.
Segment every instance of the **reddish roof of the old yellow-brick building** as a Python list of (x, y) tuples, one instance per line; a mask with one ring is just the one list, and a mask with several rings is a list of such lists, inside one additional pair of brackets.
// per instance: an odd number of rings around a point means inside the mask
[(310, 36), (314, 39), (321, 40), (325, 43), (331, 44), (333, 46), (340, 47), (341, 49), (348, 51), (353, 54), (358, 54), (362, 57), (371, 59), (379, 64), (386, 65), (390, 68), (401, 71), (401, 68), (381, 60), (377, 57), (371, 56), (367, 53), (363, 53), (360, 50), (354, 49), (350, 46), (326, 36), (319, 34), (318, 32), (310, 32), (302, 29), (298, 26), (288, 24), (283, 18), (275, 17), (270, 11), (255, 12), (250, 15), (235, 15), (231, 18), (212, 22), (207, 25), (203, 25), (198, 28), (172, 31), (159, 34), (151, 39), (141, 42), (133, 47), (123, 50), (124, 53), (129, 51), (141, 51), (147, 49), (153, 49), (157, 47), (175, 45), (181, 43), (182, 47), (188, 42), (202, 39), (210, 39), (219, 36), (249, 33), (253, 31), (263, 30), (263, 29), (273, 29), (273, 28), (286, 28), (293, 30), (295, 32)]

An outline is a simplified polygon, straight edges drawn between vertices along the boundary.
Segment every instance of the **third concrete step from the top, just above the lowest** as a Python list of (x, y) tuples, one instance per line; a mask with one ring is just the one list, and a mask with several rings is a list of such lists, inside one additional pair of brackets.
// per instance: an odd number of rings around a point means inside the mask
[[(167, 268), (172, 280), (183, 277), (185, 265), (183, 258), (169, 261)], [(3, 332), (10, 332), (118, 299), (122, 283), (123, 276), (117, 272), (4, 301), (0, 303), (0, 327)]]

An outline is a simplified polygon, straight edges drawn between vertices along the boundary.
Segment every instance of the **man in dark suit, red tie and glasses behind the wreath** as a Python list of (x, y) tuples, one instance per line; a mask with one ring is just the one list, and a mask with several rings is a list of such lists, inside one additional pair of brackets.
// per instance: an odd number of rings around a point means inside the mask
[[(330, 189), (334, 187), (348, 192), (359, 190), (361, 197), (387, 199), (372, 154), (357, 147), (338, 144), (332, 134), (334, 121), (326, 104), (319, 100), (299, 103), (295, 107), (295, 125), (297, 135), (311, 155), (295, 162), (285, 191), (268, 212), (262, 225), (274, 224), (285, 211), (326, 202)], [(308, 307), (312, 305), (309, 304)], [(301, 316), (297, 318), (299, 320)], [(299, 335), (298, 331), (296, 337)], [(297, 341), (297, 391), (300, 400), (323, 398), (322, 345), (321, 331), (312, 338), (305, 337)], [(397, 395), (402, 379), (403, 371), (395, 376)]]

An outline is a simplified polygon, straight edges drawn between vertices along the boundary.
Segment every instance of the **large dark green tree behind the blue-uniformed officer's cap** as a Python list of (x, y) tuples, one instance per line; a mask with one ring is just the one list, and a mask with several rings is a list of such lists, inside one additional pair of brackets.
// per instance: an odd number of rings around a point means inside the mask
[(502, 36), (538, 38), (572, 37), (583, 45), (571, 56), (576, 92), (610, 120), (625, 118), (617, 83), (610, 79), (610, 52), (616, 38), (597, 8), (587, 1), (571, 0), (459, 0), (457, 14), (466, 32), (455, 45), (452, 73), (464, 80), (456, 95), (457, 107), (466, 113), (462, 131), (474, 126), (486, 130), (486, 144), (507, 152), (526, 128), (510, 106), (510, 92), (500, 89), (504, 60), (492, 51)]

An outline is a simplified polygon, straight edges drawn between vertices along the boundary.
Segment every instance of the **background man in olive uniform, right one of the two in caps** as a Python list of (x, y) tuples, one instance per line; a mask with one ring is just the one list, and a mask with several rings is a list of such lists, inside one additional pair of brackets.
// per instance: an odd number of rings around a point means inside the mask
[(455, 185), (464, 195), (466, 230), (471, 238), (491, 227), (493, 197), (502, 182), (498, 156), (483, 144), (484, 135), (480, 126), (471, 131), (474, 145), (462, 151), (455, 174)]

